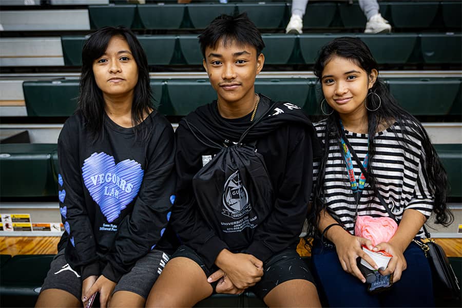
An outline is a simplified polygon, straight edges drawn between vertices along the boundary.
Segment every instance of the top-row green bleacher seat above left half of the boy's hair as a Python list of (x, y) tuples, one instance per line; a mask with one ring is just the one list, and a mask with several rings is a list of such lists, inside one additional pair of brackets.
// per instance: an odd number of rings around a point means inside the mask
[(233, 15), (236, 6), (234, 4), (194, 3), (187, 5), (187, 8), (194, 28), (204, 29), (221, 14)]

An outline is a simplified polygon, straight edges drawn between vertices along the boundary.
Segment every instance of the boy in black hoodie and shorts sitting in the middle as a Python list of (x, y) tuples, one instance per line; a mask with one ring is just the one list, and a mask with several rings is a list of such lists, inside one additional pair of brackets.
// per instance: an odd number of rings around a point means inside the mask
[[(218, 100), (177, 128), (171, 223), (183, 245), (152, 287), (147, 306), (194, 306), (214, 292), (247, 289), (268, 306), (320, 306), (310, 271), (296, 252), (318, 149), (313, 126), (299, 107), (255, 93), (264, 43), (245, 14), (217, 17), (199, 41)], [(242, 145), (252, 148), (249, 160), (239, 162), (251, 169), (247, 178), (241, 170), (217, 177), (216, 160), (245, 152), (237, 148)], [(252, 169), (255, 157), (261, 165)]]

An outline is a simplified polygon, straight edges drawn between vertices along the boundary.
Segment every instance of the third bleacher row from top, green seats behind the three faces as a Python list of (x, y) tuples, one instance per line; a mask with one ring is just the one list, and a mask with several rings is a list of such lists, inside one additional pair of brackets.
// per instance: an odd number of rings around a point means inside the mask
[[(414, 115), (462, 115), (462, 77), (388, 78), (385, 82), (396, 100)], [(151, 79), (150, 84), (164, 115), (187, 115), (216, 99), (207, 79)], [(320, 114), (321, 89), (316, 79), (257, 79), (255, 88), (273, 100)], [(29, 117), (67, 117), (77, 106), (79, 80), (25, 81), (23, 92)]]

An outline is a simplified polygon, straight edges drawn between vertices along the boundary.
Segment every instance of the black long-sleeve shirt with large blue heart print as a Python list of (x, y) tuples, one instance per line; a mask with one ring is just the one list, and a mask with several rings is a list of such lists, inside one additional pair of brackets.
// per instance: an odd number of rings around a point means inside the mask
[(105, 114), (93, 142), (78, 112), (61, 131), (58, 182), (66, 231), (59, 249), (66, 248), (66, 260), (82, 279), (102, 274), (117, 282), (150, 249), (164, 245), (175, 191), (174, 132), (156, 111), (136, 129), (137, 136)]

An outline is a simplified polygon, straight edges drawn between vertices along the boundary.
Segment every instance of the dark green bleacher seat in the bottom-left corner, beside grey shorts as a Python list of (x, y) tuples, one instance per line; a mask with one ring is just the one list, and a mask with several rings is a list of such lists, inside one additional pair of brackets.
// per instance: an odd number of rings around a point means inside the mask
[(0, 306), (33, 307), (54, 255), (17, 255), (2, 267)]

